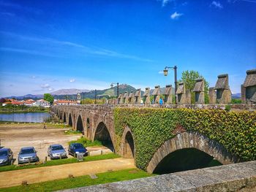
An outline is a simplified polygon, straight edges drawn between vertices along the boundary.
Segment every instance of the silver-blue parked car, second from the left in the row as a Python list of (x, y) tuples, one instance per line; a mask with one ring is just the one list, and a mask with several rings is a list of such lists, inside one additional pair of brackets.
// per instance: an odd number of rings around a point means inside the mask
[(37, 162), (39, 158), (37, 157), (37, 151), (34, 147), (23, 147), (18, 153), (18, 164), (24, 164), (29, 162)]

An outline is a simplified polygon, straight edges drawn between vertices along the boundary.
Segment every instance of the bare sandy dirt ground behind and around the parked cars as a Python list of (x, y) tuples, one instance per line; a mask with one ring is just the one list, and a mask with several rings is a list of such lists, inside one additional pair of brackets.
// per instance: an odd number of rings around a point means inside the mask
[[(67, 150), (69, 141), (82, 136), (81, 134), (64, 134), (64, 131), (69, 128), (58, 128), (50, 125), (46, 127), (47, 129), (43, 129), (42, 123), (0, 124), (1, 147), (11, 148), (14, 158), (18, 157), (21, 147), (35, 147), (39, 159), (43, 161), (45, 156), (48, 155), (49, 145), (60, 144)], [(89, 150), (90, 155), (112, 153), (107, 147), (86, 148)], [(14, 164), (17, 164), (17, 161)]]

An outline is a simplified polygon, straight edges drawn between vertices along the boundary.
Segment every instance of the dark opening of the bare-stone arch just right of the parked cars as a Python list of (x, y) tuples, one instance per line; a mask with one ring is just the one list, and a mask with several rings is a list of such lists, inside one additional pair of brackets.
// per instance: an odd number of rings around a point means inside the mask
[(113, 139), (111, 138), (110, 131), (108, 130), (108, 127), (105, 125), (105, 123), (103, 123), (102, 121), (98, 124), (95, 130), (93, 140), (99, 140), (100, 142), (102, 142), (102, 145), (114, 151), (114, 143)]

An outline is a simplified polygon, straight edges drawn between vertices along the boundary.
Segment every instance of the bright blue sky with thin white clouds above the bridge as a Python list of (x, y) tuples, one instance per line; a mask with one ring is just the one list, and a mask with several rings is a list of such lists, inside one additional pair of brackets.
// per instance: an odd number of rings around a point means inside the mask
[(256, 68), (256, 0), (0, 0), (0, 97), (173, 83), (196, 70), (240, 92)]

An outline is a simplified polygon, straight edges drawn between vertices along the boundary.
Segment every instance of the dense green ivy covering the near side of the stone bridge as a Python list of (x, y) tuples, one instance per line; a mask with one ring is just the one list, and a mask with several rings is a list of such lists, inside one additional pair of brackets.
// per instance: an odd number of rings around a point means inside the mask
[(125, 126), (132, 129), (136, 165), (146, 169), (156, 150), (175, 137), (176, 128), (197, 131), (214, 139), (242, 161), (256, 160), (256, 112), (161, 108), (116, 108), (116, 146)]

